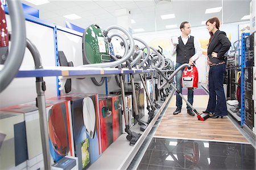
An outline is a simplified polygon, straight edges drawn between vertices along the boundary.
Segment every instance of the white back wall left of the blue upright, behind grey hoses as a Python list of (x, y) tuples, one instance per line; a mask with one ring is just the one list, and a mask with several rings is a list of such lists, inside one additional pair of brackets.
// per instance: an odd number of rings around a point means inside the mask
[[(7, 27), (11, 31), (9, 15), (6, 15)], [(52, 28), (26, 21), (27, 38), (38, 48), (44, 67), (55, 66), (55, 53), (53, 44)], [(34, 68), (34, 60), (31, 53), (26, 49), (21, 69)], [(0, 107), (16, 105), (19, 103), (35, 101), (36, 85), (35, 77), (14, 78), (13, 82), (0, 94)], [(46, 81), (46, 97), (56, 96), (56, 78), (44, 77)]]

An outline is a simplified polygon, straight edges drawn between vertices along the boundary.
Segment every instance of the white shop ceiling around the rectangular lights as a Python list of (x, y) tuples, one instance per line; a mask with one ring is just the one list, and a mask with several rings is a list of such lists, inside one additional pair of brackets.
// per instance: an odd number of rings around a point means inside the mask
[[(59, 26), (64, 26), (64, 20), (86, 28), (90, 24), (97, 23), (102, 28), (117, 24), (115, 10), (126, 8), (130, 10), (131, 19), (136, 23), (132, 28), (143, 28), (145, 31), (167, 30), (166, 25), (177, 24), (187, 20), (192, 27), (202, 26), (201, 22), (213, 16), (217, 16), (223, 23), (242, 21), (244, 15), (250, 14), (250, 0), (221, 0), (214, 1), (178, 1), (178, 0), (147, 0), (147, 1), (50, 1), (44, 5), (33, 5), (39, 9), (40, 19)], [(205, 14), (205, 10), (222, 6), (219, 13)], [(77, 14), (81, 19), (69, 20), (63, 15)], [(160, 15), (175, 14), (175, 18), (162, 20)]]

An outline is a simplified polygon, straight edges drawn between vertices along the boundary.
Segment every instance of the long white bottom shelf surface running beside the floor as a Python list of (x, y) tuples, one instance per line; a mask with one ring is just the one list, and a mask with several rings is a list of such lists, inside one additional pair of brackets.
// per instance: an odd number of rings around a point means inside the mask
[[(155, 122), (158, 120), (159, 115), (164, 110), (164, 107), (172, 97), (172, 93), (169, 94), (166, 101), (164, 101), (160, 109), (157, 110), (155, 117), (152, 119), (144, 132), (139, 130), (140, 126), (138, 123), (137, 125), (131, 127), (131, 131), (142, 134), (134, 146), (129, 145), (129, 141), (126, 139), (127, 134), (122, 134), (102, 153), (101, 157), (95, 163), (93, 163), (89, 169), (127, 169), (152, 127), (155, 125)], [(148, 115), (146, 114), (142, 120), (146, 121), (147, 117)]]

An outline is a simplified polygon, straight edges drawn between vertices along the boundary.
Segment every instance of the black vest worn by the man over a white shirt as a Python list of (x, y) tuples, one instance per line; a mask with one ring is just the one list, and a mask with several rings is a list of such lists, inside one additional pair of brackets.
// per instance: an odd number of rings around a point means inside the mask
[(194, 46), (194, 37), (190, 36), (188, 38), (188, 42), (184, 45), (183, 41), (181, 40), (181, 36), (179, 36), (179, 44), (177, 45), (176, 52), (176, 63), (184, 64), (188, 63), (189, 59), (195, 55), (195, 46)]

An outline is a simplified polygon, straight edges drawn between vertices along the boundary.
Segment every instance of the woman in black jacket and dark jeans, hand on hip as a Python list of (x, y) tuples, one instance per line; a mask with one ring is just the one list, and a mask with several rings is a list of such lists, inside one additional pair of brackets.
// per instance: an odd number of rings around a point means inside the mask
[(231, 43), (226, 37), (226, 33), (218, 30), (220, 28), (220, 20), (218, 18), (208, 19), (206, 25), (210, 34), (207, 50), (208, 64), (210, 66), (209, 101), (207, 109), (203, 113), (214, 113), (211, 118), (223, 118), (225, 115), (228, 115), (223, 89), (224, 73), (226, 70), (224, 54), (229, 50)]

